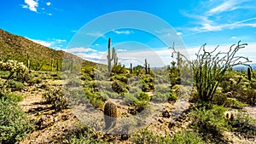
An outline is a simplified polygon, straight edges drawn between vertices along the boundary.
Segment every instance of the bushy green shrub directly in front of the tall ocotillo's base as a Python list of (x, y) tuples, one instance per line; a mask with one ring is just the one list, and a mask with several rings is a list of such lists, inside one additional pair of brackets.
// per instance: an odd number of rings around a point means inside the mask
[(221, 133), (229, 130), (230, 125), (224, 118), (226, 108), (213, 105), (211, 109), (206, 107), (196, 108), (189, 112), (189, 118), (192, 120), (192, 127), (204, 135), (207, 141), (213, 138), (221, 139)]

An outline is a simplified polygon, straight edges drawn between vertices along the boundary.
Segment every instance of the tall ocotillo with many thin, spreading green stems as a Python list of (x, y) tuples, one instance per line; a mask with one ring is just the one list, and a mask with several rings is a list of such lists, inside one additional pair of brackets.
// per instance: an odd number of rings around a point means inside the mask
[[(227, 52), (217, 52), (218, 46), (212, 51), (207, 51), (205, 49), (206, 44), (204, 44), (195, 54), (195, 60), (188, 60), (186, 56), (180, 54), (193, 70), (194, 83), (197, 89), (196, 96), (199, 101), (212, 101), (218, 84), (224, 78), (224, 73), (231, 67), (237, 65), (249, 66), (247, 62), (250, 62), (250, 60), (247, 57), (237, 55), (237, 51), (245, 48), (246, 45), (247, 43), (239, 41), (237, 44), (231, 45)], [(177, 53), (174, 44), (170, 49)]]

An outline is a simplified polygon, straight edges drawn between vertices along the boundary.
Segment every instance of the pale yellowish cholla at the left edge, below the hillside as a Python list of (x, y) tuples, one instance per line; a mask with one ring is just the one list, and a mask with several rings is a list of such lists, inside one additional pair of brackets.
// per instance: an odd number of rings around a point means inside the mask
[(23, 62), (17, 60), (0, 61), (0, 71), (9, 71), (9, 78), (16, 78), (19, 81), (25, 81), (29, 72)]

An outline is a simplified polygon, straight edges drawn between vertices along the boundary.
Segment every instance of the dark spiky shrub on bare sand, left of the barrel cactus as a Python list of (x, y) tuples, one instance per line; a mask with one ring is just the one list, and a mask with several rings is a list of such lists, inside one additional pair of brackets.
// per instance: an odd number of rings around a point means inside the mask
[(68, 107), (67, 98), (61, 88), (49, 89), (44, 93), (43, 98), (47, 103), (52, 104), (55, 111), (61, 111)]

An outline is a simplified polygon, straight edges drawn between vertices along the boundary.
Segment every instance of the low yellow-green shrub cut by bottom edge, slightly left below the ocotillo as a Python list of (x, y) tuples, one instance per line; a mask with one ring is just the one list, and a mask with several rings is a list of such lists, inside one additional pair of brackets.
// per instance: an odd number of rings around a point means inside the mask
[(205, 144), (207, 142), (203, 141), (201, 136), (198, 133), (195, 133), (194, 131), (189, 131), (189, 130), (183, 130), (183, 131), (178, 131), (175, 133), (172, 137), (172, 142), (173, 144), (182, 144), (182, 143), (187, 143), (187, 144)]

